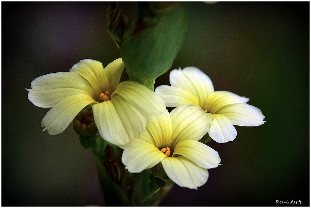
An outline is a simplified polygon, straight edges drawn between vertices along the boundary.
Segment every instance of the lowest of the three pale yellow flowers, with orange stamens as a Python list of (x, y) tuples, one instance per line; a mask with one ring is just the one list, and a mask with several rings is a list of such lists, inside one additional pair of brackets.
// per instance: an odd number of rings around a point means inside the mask
[(211, 114), (195, 105), (147, 117), (146, 130), (123, 151), (125, 169), (139, 173), (161, 163), (174, 183), (197, 189), (207, 182), (207, 169), (220, 162), (215, 150), (198, 142), (211, 121)]

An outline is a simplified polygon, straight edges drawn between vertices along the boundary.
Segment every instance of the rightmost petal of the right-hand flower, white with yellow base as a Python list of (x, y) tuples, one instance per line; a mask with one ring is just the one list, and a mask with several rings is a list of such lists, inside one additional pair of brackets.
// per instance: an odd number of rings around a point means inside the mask
[(239, 126), (259, 126), (264, 123), (265, 118), (259, 108), (247, 103), (226, 105), (216, 113), (226, 116), (232, 124)]

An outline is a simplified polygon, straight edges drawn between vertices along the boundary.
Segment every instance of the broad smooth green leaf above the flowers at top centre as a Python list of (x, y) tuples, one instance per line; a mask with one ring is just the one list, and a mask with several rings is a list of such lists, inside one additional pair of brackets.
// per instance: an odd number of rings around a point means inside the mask
[[(146, 2), (138, 2), (138, 10), (140, 4)], [(188, 18), (186, 2), (169, 9), (156, 10), (154, 5), (143, 9), (144, 12), (138, 12), (141, 19), (134, 34), (123, 37), (120, 52), (129, 79), (141, 84), (169, 70), (182, 46)]]

